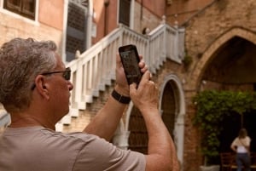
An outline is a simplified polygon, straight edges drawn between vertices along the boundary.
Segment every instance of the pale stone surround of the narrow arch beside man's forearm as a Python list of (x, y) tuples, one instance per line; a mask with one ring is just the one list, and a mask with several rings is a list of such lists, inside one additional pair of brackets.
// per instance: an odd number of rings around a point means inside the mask
[(175, 110), (175, 123), (173, 130), (173, 141), (176, 145), (177, 158), (183, 170), (183, 143), (184, 143), (184, 117), (185, 117), (185, 98), (183, 86), (179, 78), (174, 75), (168, 75), (164, 78), (164, 82), (160, 87), (160, 109), (161, 101), (163, 100), (164, 90), (168, 83), (172, 83), (172, 91), (175, 92), (175, 100), (177, 100), (177, 109)]

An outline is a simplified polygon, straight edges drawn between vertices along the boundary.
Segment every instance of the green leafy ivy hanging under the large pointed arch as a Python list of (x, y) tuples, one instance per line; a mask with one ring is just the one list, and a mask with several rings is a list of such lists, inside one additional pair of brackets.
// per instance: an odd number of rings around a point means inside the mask
[(196, 94), (194, 99), (196, 114), (193, 120), (202, 133), (201, 152), (207, 157), (218, 157), (218, 147), (224, 117), (232, 113), (243, 114), (256, 110), (256, 94), (253, 92), (233, 92), (208, 90)]

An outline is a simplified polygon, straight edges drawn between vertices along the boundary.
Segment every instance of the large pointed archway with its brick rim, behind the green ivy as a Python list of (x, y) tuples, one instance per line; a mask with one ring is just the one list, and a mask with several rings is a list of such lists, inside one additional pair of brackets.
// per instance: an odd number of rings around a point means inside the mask
[[(255, 91), (256, 83), (256, 35), (240, 27), (231, 28), (218, 37), (203, 53), (200, 61), (191, 73), (195, 77), (195, 89), (230, 91)], [(193, 87), (193, 86), (192, 86)], [(243, 113), (243, 127), (248, 134), (256, 138), (253, 123), (256, 112)], [(224, 118), (219, 135), (219, 152), (230, 151), (230, 143), (241, 128), (241, 115), (231, 113)], [(255, 140), (254, 140), (255, 141)], [(255, 142), (252, 141), (252, 146)], [(253, 149), (254, 151), (255, 149)]]

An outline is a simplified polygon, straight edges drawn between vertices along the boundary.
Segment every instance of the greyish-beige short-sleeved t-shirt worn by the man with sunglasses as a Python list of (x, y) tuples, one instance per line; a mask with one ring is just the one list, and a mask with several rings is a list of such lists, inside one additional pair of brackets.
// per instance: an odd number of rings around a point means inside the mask
[(0, 135), (1, 171), (143, 171), (143, 154), (92, 134), (43, 127), (7, 128)]

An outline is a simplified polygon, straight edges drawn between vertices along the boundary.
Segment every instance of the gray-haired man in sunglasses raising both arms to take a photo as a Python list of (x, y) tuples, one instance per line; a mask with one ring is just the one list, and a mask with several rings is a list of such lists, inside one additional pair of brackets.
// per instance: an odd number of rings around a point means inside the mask
[[(1, 171), (177, 171), (172, 138), (158, 110), (158, 89), (142, 60), (140, 84), (128, 85), (119, 55), (113, 94), (83, 132), (55, 132), (69, 111), (70, 68), (51, 41), (14, 38), (0, 48), (0, 102), (11, 123), (0, 136)], [(120, 98), (116, 98), (117, 95)], [(117, 148), (111, 140), (126, 105), (141, 111), (148, 154)]]

